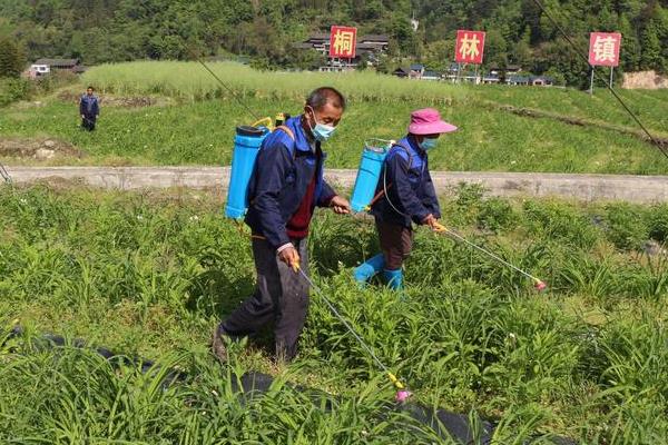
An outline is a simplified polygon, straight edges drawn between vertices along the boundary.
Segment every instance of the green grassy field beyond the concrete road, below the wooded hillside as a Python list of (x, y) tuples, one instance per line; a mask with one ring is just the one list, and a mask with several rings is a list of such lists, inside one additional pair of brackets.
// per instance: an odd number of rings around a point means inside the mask
[[(350, 109), (327, 144), (328, 166), (356, 168), (363, 140), (399, 138), (411, 110), (441, 109), (460, 127), (432, 155), (442, 170), (667, 174), (658, 150), (629, 131), (630, 118), (606, 91), (592, 97), (550, 88), (456, 87), (376, 76), (261, 73), (232, 63), (213, 63), (244, 103), (258, 116), (298, 113), (314, 87), (334, 85), (350, 98)], [(47, 164), (75, 165), (224, 165), (232, 157), (234, 127), (253, 118), (197, 63), (135, 62), (91, 69), (82, 85), (94, 83), (112, 98), (168, 98), (164, 106), (128, 108), (102, 105), (99, 130), (78, 128), (72, 95), (17, 103), (0, 115), (0, 140), (56, 138), (85, 152)], [(79, 86), (72, 87), (78, 91)], [(660, 137), (668, 132), (665, 91), (622, 91), (631, 108)], [(512, 106), (542, 112), (529, 118), (499, 109)], [(546, 115), (547, 113), (547, 115)], [(574, 126), (560, 117), (580, 119)], [(618, 128), (618, 130), (612, 129)], [(35, 164), (0, 150), (8, 164)]]

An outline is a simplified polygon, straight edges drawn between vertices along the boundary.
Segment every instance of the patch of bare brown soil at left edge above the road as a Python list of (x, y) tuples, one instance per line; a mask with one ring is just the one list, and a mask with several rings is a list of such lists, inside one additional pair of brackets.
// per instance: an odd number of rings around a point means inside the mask
[(0, 157), (53, 160), (57, 158), (82, 158), (86, 154), (71, 144), (58, 139), (0, 138)]

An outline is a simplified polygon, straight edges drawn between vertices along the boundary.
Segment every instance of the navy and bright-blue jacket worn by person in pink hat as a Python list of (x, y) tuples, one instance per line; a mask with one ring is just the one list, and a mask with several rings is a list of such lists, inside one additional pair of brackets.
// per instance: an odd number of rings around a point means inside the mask
[(441, 217), (426, 151), (411, 136), (401, 139), (387, 152), (375, 194), (381, 192), (381, 198), (371, 207), (371, 214), (379, 221), (411, 227), (411, 222), (422, 224), (429, 214)]

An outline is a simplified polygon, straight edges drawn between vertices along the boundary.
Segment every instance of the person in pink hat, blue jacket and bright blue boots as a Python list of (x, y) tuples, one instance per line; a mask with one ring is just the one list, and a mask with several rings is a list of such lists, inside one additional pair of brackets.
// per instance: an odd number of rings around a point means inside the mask
[(409, 135), (387, 152), (376, 187), (377, 199), (371, 206), (382, 254), (355, 268), (358, 283), (366, 283), (382, 270), (387, 286), (401, 289), (401, 267), (413, 246), (413, 222), (434, 230), (442, 228), (428, 154), (442, 134), (454, 130), (456, 127), (443, 121), (433, 108), (411, 113)]

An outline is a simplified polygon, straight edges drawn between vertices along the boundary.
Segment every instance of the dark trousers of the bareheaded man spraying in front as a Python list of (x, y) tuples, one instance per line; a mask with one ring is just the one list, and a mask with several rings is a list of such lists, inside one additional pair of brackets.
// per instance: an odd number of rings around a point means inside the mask
[[(292, 240), (299, 253), (301, 267), (308, 274), (306, 239)], [(276, 250), (264, 239), (253, 238), (257, 273), (255, 293), (220, 324), (222, 335), (244, 337), (274, 322), (276, 357), (291, 360), (297, 354), (297, 339), (308, 310), (308, 284), (278, 259)]]

